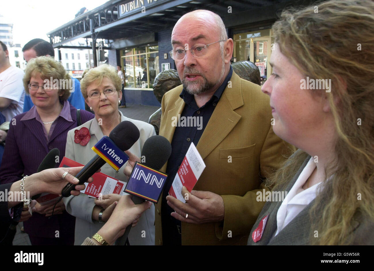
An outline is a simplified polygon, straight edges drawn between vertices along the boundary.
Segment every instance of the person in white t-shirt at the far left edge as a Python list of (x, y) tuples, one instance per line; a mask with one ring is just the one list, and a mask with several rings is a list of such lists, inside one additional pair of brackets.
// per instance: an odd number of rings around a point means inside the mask
[(23, 111), (25, 89), (22, 78), (24, 72), (9, 62), (6, 45), (0, 41), (0, 111), (6, 121)]

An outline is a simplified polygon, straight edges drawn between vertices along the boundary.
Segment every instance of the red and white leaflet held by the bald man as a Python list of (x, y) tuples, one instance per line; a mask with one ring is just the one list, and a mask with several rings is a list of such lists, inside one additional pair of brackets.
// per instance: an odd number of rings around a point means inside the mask
[(178, 198), (178, 200), (182, 202), (186, 202), (181, 194), (182, 186), (185, 186), (187, 190), (191, 192), (204, 169), (205, 163), (203, 158), (197, 151), (195, 145), (191, 143), (175, 175), (173, 184), (169, 190), (169, 195)]

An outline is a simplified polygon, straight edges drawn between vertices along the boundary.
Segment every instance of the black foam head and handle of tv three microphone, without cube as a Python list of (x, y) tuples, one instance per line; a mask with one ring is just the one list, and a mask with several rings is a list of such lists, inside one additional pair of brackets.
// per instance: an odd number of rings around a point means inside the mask
[[(138, 141), (140, 132), (131, 121), (122, 121), (110, 132), (109, 138), (114, 142), (116, 147), (122, 151), (126, 151)], [(95, 155), (83, 169), (75, 176), (79, 180), (79, 184), (84, 184), (99, 168), (104, 166), (106, 161), (99, 155)], [(63, 197), (69, 197), (70, 191), (75, 190), (76, 184), (67, 184), (61, 191)]]

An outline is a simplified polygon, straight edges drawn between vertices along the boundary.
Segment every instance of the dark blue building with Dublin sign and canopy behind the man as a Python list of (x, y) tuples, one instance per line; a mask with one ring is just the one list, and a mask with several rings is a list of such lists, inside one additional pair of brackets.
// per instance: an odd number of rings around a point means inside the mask
[(185, 13), (207, 9), (223, 19), (234, 40), (232, 62), (249, 60), (260, 69), (261, 80), (271, 74), (271, 26), (288, 6), (311, 4), (312, 0), (125, 0), (112, 1), (88, 11), (49, 35), (54, 46), (76, 37), (105, 39), (108, 63), (121, 65), (126, 77), (126, 103), (157, 105), (152, 84), (160, 71), (175, 69), (170, 57), (171, 32)]

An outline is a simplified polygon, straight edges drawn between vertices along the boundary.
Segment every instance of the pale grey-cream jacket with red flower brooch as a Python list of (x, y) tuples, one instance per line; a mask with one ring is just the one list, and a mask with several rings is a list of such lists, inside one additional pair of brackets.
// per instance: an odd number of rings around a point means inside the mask
[[(144, 142), (151, 136), (156, 135), (154, 128), (151, 124), (145, 123), (140, 120), (133, 120), (131, 118), (121, 115), (121, 121), (131, 121), (138, 127), (140, 132), (140, 138), (134, 145), (129, 149), (131, 153), (141, 156), (141, 150), (143, 148)], [(74, 143), (74, 130), (80, 129), (82, 127), (88, 128), (90, 131), (91, 139), (87, 145), (81, 146), (80, 144)], [(87, 164), (95, 153), (91, 148), (103, 137), (103, 133), (99, 127), (96, 118), (83, 123), (81, 126), (74, 128), (68, 132), (66, 141), (65, 156), (81, 164)], [(101, 167), (101, 172), (112, 176), (120, 181), (127, 182), (127, 177), (123, 174), (123, 169), (127, 163), (125, 163), (119, 170), (114, 170), (108, 163), (105, 163)], [(92, 237), (103, 223), (98, 221), (92, 221), (92, 210), (95, 207), (94, 198), (88, 197), (86, 194), (80, 194), (79, 196), (70, 196), (64, 198), (65, 207), (70, 215), (76, 217), (75, 222), (75, 240), (74, 245), (80, 245), (86, 239), (86, 237)], [(142, 234), (142, 231), (145, 231)], [(153, 245), (154, 244), (154, 206), (152, 205), (150, 209), (146, 210), (139, 219), (138, 224), (131, 229), (129, 236), (129, 243), (131, 245)]]

